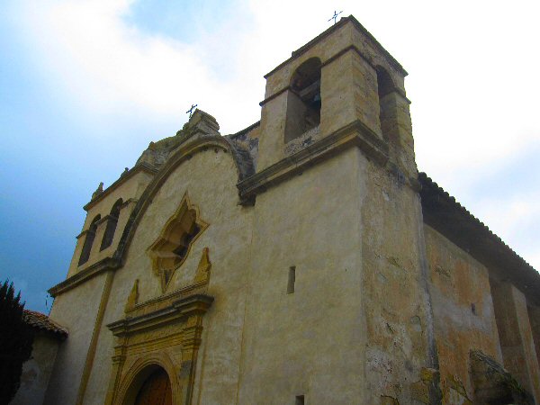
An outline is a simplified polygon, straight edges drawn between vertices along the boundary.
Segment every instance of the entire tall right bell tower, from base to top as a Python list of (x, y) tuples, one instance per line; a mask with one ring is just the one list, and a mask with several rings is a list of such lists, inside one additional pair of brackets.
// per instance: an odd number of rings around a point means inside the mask
[(441, 403), (405, 76), (352, 16), (265, 76), (244, 403)]

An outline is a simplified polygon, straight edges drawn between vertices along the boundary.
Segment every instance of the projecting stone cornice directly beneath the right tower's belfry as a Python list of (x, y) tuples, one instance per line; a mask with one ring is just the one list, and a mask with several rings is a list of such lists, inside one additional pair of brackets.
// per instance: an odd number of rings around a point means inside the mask
[(334, 131), (330, 135), (303, 148), (290, 157), (285, 157), (272, 166), (257, 172), (237, 184), (242, 202), (250, 202), (257, 193), (278, 184), (292, 175), (315, 165), (346, 148), (360, 148), (367, 157), (380, 165), (388, 162), (388, 145), (362, 121), (353, 123)]

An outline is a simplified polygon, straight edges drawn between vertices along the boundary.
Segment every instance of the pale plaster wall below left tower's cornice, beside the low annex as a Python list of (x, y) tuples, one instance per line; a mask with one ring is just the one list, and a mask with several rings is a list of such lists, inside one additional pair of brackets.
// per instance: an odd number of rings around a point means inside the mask
[(54, 301), (49, 318), (66, 328), (69, 337), (58, 348), (45, 404), (76, 402), (105, 277), (104, 274), (97, 275), (60, 294)]

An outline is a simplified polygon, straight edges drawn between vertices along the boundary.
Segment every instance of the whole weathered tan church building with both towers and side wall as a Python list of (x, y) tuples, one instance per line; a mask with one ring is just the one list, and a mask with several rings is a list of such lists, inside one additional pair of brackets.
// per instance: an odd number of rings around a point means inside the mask
[(418, 173), (406, 75), (342, 18), (98, 188), (44, 403), (540, 403), (540, 275)]

